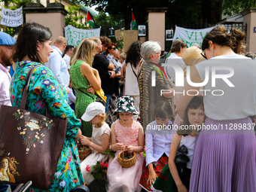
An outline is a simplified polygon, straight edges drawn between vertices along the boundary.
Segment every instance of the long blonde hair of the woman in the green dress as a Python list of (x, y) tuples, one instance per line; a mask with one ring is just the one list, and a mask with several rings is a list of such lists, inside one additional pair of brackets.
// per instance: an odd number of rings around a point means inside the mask
[(96, 42), (94, 42), (90, 38), (84, 38), (78, 45), (78, 50), (76, 51), (75, 56), (72, 58), (72, 65), (74, 65), (78, 59), (81, 59), (84, 62), (87, 62), (90, 66), (92, 66), (93, 53), (96, 52), (96, 49)]

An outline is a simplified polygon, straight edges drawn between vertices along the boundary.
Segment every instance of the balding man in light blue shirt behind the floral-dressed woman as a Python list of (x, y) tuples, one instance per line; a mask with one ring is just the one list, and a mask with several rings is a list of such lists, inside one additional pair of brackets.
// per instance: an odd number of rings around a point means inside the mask
[(63, 89), (67, 90), (69, 87), (69, 71), (66, 62), (62, 59), (62, 52), (65, 50), (67, 44), (66, 38), (59, 36), (53, 43), (53, 53), (50, 53), (49, 61), (44, 63), (53, 74)]

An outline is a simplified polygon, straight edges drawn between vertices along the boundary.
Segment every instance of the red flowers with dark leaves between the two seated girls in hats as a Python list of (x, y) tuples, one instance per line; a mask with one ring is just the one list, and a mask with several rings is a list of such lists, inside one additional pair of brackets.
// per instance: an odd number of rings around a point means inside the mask
[[(93, 166), (93, 171), (91, 174), (93, 175), (93, 178), (95, 179), (102, 179), (104, 178), (105, 173), (108, 169), (108, 162), (102, 162), (100, 163), (99, 160), (96, 162), (96, 165)], [(87, 172), (90, 172), (90, 166), (87, 165), (86, 167)]]

